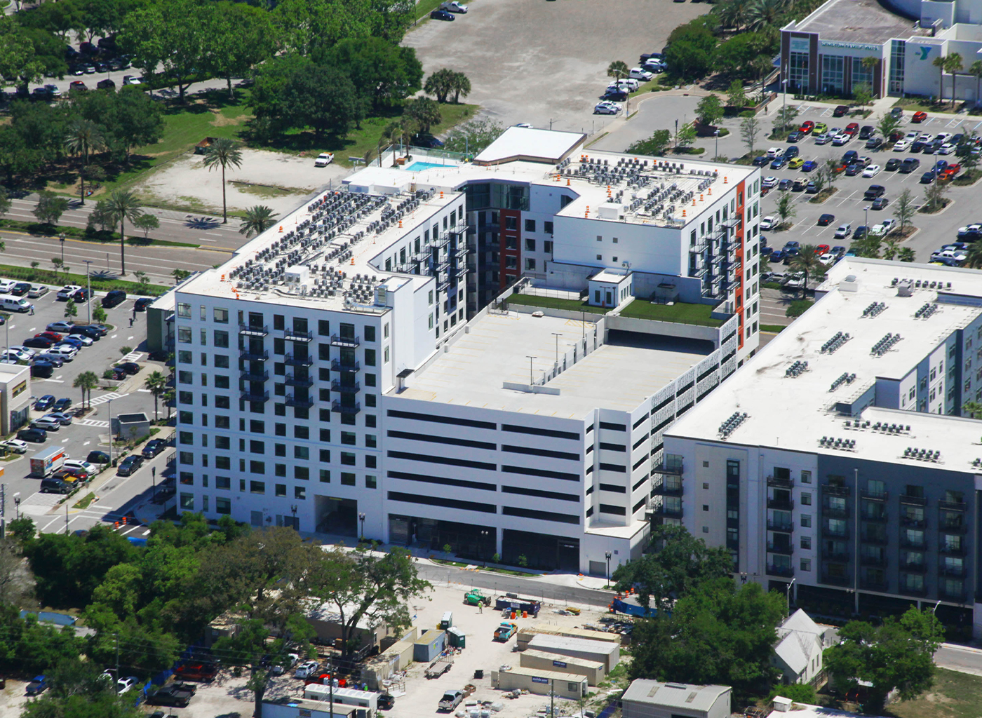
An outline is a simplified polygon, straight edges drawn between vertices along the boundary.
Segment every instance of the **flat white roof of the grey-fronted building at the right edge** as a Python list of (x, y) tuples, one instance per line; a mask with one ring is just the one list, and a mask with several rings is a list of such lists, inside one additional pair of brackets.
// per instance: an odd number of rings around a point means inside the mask
[[(840, 289), (847, 276), (856, 279), (855, 292)], [(912, 297), (898, 296), (895, 278), (927, 280), (928, 287), (915, 289)], [(930, 282), (936, 283), (930, 289)], [(952, 287), (948, 289), (948, 283)], [(939, 288), (938, 283), (941, 283)], [(843, 450), (819, 445), (823, 436), (853, 439), (855, 456), (881, 462), (906, 462), (907, 447), (942, 452), (936, 469), (972, 471), (973, 460), (982, 457), (976, 444), (982, 423), (974, 419), (941, 414), (923, 414), (871, 407), (863, 419), (876, 423), (910, 425), (909, 433), (886, 434), (872, 429), (846, 429), (846, 416), (835, 411), (837, 402), (858, 398), (880, 378), (900, 379), (914, 370), (956, 329), (963, 328), (982, 312), (982, 307), (938, 304), (926, 319), (914, 318), (924, 304), (940, 294), (982, 298), (982, 272), (929, 264), (890, 262), (846, 257), (830, 271), (817, 294), (827, 293), (791, 326), (782, 331), (743, 365), (719, 389), (699, 402), (666, 429), (665, 434), (742, 446), (769, 446), (790, 451), (841, 456)], [(873, 317), (863, 311), (873, 303), (886, 304)], [(834, 354), (821, 347), (837, 332), (851, 336)], [(902, 339), (882, 357), (871, 348), (888, 333)], [(796, 377), (786, 376), (795, 361), (808, 368)], [(855, 374), (831, 390), (844, 373)], [(746, 418), (724, 439), (720, 424), (736, 412)], [(920, 464), (920, 462), (916, 462)]]

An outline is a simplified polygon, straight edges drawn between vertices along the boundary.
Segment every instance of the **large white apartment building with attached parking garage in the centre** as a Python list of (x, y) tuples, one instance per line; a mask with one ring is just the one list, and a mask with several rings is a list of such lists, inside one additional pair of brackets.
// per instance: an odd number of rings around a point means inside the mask
[[(489, 164), (362, 170), (181, 285), (180, 510), (598, 574), (636, 555), (662, 431), (757, 347), (759, 171), (580, 140), (516, 128)], [(492, 213), (506, 294), (531, 220), (540, 284), (629, 273), (718, 326), (477, 306)]]

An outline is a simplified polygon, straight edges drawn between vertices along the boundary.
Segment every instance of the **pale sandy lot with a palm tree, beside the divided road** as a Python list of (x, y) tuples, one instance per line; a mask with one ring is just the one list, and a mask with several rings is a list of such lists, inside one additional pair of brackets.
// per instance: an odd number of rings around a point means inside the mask
[[(221, 215), (221, 169), (209, 171), (203, 159), (200, 154), (179, 157), (146, 177), (136, 193), (148, 204)], [(230, 167), (225, 173), (229, 211), (265, 204), (283, 215), (328, 182), (339, 185), (350, 172), (337, 165), (314, 168), (313, 157), (243, 149), (242, 167)]]

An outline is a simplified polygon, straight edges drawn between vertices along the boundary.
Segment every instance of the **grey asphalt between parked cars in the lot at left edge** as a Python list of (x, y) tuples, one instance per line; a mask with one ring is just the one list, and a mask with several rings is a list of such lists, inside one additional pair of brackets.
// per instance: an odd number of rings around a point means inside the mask
[[(57, 289), (57, 287), (52, 287), (40, 299), (30, 300), (35, 308), (33, 315), (10, 315), (6, 324), (0, 327), (0, 332), (2, 332), (0, 339), (3, 339), (5, 346), (20, 345), (28, 337), (43, 332), (49, 323), (65, 319), (66, 303), (56, 300)], [(93, 304), (92, 308), (94, 308), (94, 303), (100, 301), (103, 294), (96, 293), (96, 297), (89, 303)], [(69, 398), (73, 402), (72, 410), (77, 410), (82, 407), (82, 391), (73, 388), (72, 384), (80, 373), (93, 371), (96, 376), (101, 378), (103, 371), (113, 362), (124, 359), (122, 351), (124, 347), (130, 347), (133, 350), (127, 354), (126, 359), (135, 361), (140, 367), (136, 375), (128, 376), (114, 388), (93, 389), (91, 393), (92, 412), (81, 418), (74, 418), (71, 424), (62, 426), (57, 431), (49, 431), (44, 443), (28, 443), (26, 454), (15, 455), (13, 459), (2, 463), (4, 469), (2, 480), (6, 484), (7, 491), (8, 520), (13, 518), (15, 512), (20, 511), (31, 517), (41, 530), (65, 530), (66, 512), (63, 507), (57, 506), (63, 497), (58, 494), (39, 493), (40, 479), (27, 476), (30, 472), (30, 457), (38, 452), (47, 451), (52, 446), (64, 447), (71, 458), (82, 460), (92, 450), (108, 452), (110, 411), (114, 416), (143, 412), (152, 418), (153, 398), (143, 388), (145, 377), (154, 370), (160, 370), (166, 374), (167, 367), (162, 361), (149, 361), (147, 359), (145, 352), (145, 314), (136, 312), (134, 325), (133, 327), (130, 326), (130, 319), (134, 316), (135, 300), (136, 297), (130, 296), (123, 304), (106, 309), (108, 316), (104, 323), (112, 326), (106, 336), (94, 342), (92, 346), (82, 348), (73, 361), (66, 361), (61, 367), (55, 368), (50, 378), (33, 377), (31, 379), (30, 395), (32, 397), (53, 395), (58, 399)], [(78, 304), (78, 312), (74, 321), (86, 323), (88, 306), (84, 303)], [(33, 405), (33, 403), (32, 400), (31, 404)], [(160, 406), (161, 409), (164, 409), (162, 402)], [(33, 420), (44, 414), (46, 412), (32, 409), (30, 419)], [(100, 497), (111, 495), (114, 492), (118, 492), (117, 497), (131, 496), (134, 492), (149, 486), (151, 467), (156, 467), (158, 476), (163, 477), (166, 459), (171, 453), (173, 452), (164, 452), (152, 461), (145, 462), (140, 469), (128, 477), (117, 477), (116, 469), (106, 469), (92, 480), (88, 489), (76, 494), (68, 503), (74, 504), (82, 498), (87, 490), (95, 490)], [(131, 485), (126, 491), (121, 491), (125, 484)], [(19, 507), (13, 500), (15, 497), (20, 499)], [(119, 519), (119, 515), (115, 513), (119, 508), (120, 506), (113, 506), (112, 504), (95, 503), (84, 510), (70, 509), (68, 516), (70, 529), (88, 527), (97, 521)]]

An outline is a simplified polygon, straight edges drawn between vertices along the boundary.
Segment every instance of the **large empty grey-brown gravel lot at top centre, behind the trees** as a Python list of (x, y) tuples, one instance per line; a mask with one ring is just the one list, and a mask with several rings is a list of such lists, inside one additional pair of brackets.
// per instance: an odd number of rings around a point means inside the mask
[[(607, 66), (635, 67), (660, 52), (678, 25), (707, 11), (693, 2), (622, 0), (474, 0), (453, 23), (428, 21), (409, 32), (427, 74), (461, 71), (473, 87), (467, 102), (512, 125), (590, 132), (610, 121), (593, 116), (609, 79)], [(673, 118), (674, 119), (674, 118)]]

